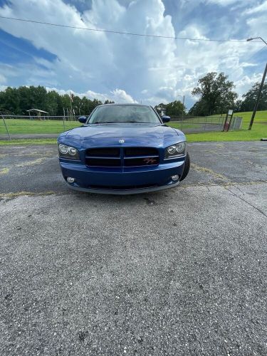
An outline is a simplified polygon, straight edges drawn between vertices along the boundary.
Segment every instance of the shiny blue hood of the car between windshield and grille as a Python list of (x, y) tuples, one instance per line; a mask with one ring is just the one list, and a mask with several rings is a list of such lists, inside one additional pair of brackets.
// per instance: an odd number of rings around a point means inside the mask
[[(181, 136), (181, 137), (178, 137)], [(59, 140), (68, 145), (68, 142), (80, 143), (80, 147), (98, 147), (121, 145), (152, 145), (166, 147), (174, 142), (184, 140), (182, 132), (167, 125), (152, 124), (107, 124), (85, 125), (68, 132), (63, 132)]]

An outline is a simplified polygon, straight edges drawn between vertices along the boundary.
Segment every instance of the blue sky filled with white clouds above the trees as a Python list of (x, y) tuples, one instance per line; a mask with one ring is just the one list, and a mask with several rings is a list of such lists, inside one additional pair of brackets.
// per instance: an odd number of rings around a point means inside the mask
[(224, 72), (241, 96), (261, 80), (267, 0), (0, 0), (0, 16), (192, 41), (84, 31), (0, 19), (0, 90), (48, 90), (116, 103), (182, 100), (210, 71)]

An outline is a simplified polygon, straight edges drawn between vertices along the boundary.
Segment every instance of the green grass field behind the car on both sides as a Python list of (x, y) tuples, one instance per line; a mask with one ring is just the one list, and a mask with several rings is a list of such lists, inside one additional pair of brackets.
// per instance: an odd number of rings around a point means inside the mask
[[(218, 115), (214, 115), (218, 116)], [(239, 112), (236, 116), (243, 117), (242, 130), (229, 131), (229, 132), (201, 132), (187, 134), (188, 142), (195, 141), (253, 141), (260, 140), (263, 137), (267, 137), (267, 110), (258, 111), (253, 123), (252, 130), (248, 131), (248, 125), (251, 119), (251, 112)], [(207, 117), (206, 122), (212, 122), (213, 117)], [(194, 122), (197, 120), (205, 120), (205, 118), (189, 119), (189, 123), (183, 123), (184, 128), (191, 128), (196, 125)], [(20, 120), (20, 119), (8, 119), (6, 120), (9, 132), (13, 134), (34, 134), (34, 133), (56, 133), (59, 134), (64, 131), (63, 122), (59, 120)], [(177, 122), (171, 122), (172, 127), (179, 128), (180, 124)], [(67, 121), (65, 130), (70, 130), (73, 127), (80, 126), (80, 122)], [(3, 120), (0, 120), (0, 135), (5, 135), (5, 127)], [(1, 141), (2, 145), (53, 145), (56, 144), (56, 139), (27, 139), (27, 140), (11, 140)]]

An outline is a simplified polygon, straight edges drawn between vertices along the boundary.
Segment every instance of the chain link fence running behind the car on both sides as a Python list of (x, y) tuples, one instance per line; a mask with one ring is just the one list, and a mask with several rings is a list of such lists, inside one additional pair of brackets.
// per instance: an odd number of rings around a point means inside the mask
[[(224, 130), (225, 116), (173, 116), (168, 125), (184, 133)], [(78, 116), (0, 115), (0, 140), (56, 137), (80, 126)], [(229, 130), (240, 130), (241, 117), (233, 117)]]

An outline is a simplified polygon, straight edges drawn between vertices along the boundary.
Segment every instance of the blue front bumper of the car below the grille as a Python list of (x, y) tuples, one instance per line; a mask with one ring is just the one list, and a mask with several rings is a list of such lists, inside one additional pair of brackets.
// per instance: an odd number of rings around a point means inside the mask
[(171, 177), (182, 176), (184, 158), (154, 167), (89, 168), (67, 159), (60, 159), (60, 165), (65, 180), (75, 178), (74, 183), (68, 183), (72, 189), (100, 194), (137, 194), (176, 187), (179, 181), (173, 182)]

